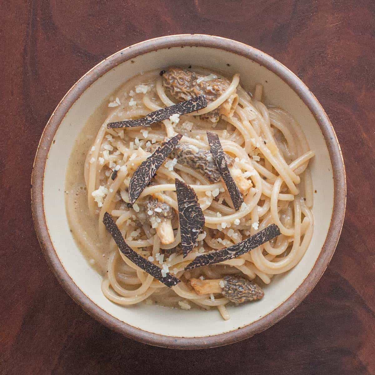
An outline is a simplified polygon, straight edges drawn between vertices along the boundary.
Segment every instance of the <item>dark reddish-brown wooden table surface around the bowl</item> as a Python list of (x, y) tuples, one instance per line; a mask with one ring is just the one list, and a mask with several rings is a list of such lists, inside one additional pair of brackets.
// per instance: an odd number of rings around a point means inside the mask
[[(40, 250), (30, 174), (67, 90), (142, 40), (206, 33), (247, 43), (295, 72), (344, 153), (348, 203), (335, 255), (290, 315), (227, 347), (140, 344), (87, 315)], [(0, 374), (375, 374), (375, 2), (0, 1)]]

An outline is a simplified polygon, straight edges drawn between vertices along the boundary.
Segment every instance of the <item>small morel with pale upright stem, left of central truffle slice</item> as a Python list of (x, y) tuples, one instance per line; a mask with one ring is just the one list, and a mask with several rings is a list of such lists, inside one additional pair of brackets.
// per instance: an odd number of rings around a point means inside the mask
[(174, 241), (172, 219), (174, 217), (173, 208), (157, 199), (149, 198), (146, 207), (146, 216), (151, 226), (156, 228), (156, 234), (163, 245), (169, 245)]

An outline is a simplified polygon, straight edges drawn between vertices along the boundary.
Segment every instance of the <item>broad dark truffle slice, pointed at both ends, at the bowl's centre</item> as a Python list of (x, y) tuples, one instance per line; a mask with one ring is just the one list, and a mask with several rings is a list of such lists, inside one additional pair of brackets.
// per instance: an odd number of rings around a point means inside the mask
[(192, 251), (195, 241), (204, 226), (204, 214), (193, 188), (177, 178), (174, 182), (176, 184), (182, 253), (185, 258)]

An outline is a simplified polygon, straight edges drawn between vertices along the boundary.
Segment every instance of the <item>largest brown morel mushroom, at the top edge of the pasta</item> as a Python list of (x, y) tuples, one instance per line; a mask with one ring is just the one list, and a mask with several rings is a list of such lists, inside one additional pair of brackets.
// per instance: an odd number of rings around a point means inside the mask
[[(168, 68), (163, 74), (163, 85), (171, 96), (182, 102), (198, 95), (204, 95), (207, 102), (213, 102), (228, 89), (230, 81), (214, 74), (207, 76), (180, 68)], [(201, 118), (216, 123), (220, 115), (231, 116), (238, 104), (236, 91), (215, 110), (201, 115)]]

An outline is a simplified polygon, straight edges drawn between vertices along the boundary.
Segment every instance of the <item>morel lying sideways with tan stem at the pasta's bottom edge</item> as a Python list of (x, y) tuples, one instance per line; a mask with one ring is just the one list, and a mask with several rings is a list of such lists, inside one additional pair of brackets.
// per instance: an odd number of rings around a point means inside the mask
[(227, 275), (223, 279), (190, 279), (197, 294), (221, 293), (231, 302), (243, 303), (263, 298), (261, 287), (252, 281)]

